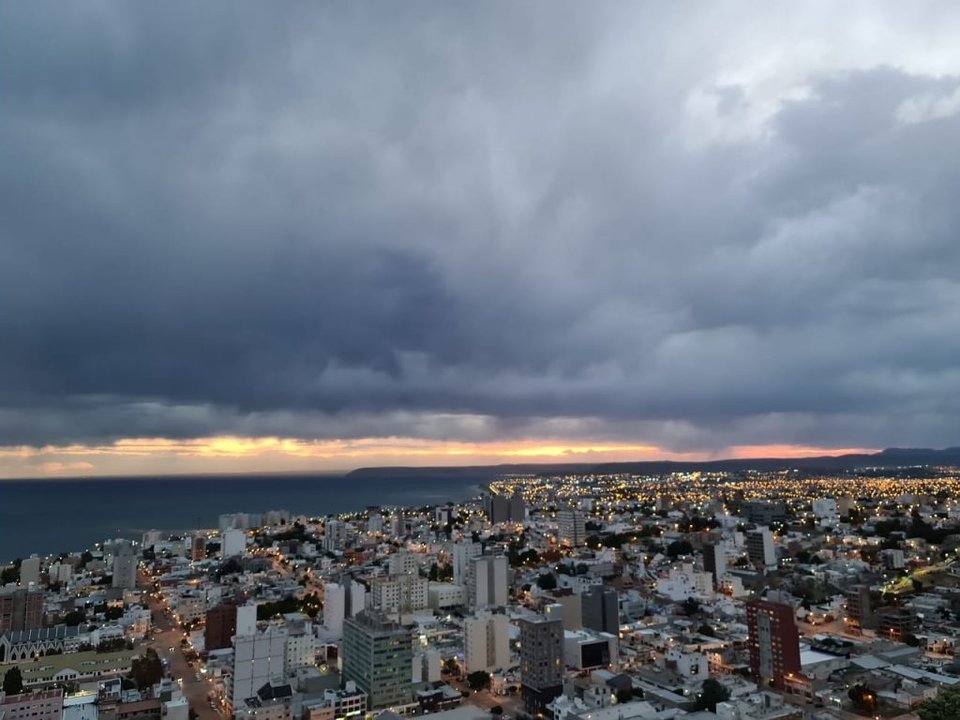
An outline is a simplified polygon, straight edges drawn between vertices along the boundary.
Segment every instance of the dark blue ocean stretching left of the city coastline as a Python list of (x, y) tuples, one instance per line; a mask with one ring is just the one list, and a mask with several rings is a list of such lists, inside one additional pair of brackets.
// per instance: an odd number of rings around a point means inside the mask
[(199, 475), (0, 481), (0, 563), (72, 552), (145, 530), (216, 528), (222, 513), (327, 515), (476, 497), (489, 477)]

